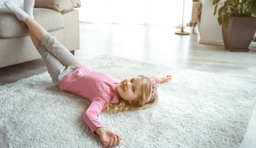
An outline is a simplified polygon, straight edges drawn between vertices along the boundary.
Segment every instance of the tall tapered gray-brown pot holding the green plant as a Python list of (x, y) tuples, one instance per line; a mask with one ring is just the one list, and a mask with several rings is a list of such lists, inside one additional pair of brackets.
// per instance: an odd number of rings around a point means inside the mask
[(248, 52), (256, 30), (256, 17), (230, 17), (229, 28), (222, 24), (225, 48), (230, 51)]

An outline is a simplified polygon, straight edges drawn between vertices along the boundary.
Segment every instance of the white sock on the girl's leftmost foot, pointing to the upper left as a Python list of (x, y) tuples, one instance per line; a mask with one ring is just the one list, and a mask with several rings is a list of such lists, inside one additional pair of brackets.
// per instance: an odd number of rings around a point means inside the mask
[(17, 6), (15, 3), (13, 3), (13, 1), (6, 1), (4, 3), (4, 5), (10, 10), (12, 11), (18, 20), (20, 21), (24, 21), (27, 19), (27, 17), (29, 17), (29, 15), (24, 12), (22, 9), (20, 9), (19, 6)]

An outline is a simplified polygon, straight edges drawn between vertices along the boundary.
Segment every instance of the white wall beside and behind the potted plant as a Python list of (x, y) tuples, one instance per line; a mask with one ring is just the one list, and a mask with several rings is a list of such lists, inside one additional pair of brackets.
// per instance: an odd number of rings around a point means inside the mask
[[(221, 0), (221, 2), (224, 0)], [(218, 9), (222, 6), (217, 7), (215, 16), (213, 0), (201, 0), (202, 12), (201, 21), (197, 24), (197, 40), (199, 43), (210, 43), (224, 45), (221, 26), (218, 23)], [(251, 43), (250, 46), (256, 46), (256, 43)]]

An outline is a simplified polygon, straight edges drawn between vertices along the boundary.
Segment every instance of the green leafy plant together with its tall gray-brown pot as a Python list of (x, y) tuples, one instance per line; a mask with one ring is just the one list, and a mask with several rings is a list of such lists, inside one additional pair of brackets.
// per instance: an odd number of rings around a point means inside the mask
[(256, 30), (256, 0), (213, 0), (214, 16), (219, 4), (218, 22), (222, 25), (225, 48), (230, 51), (246, 51)]

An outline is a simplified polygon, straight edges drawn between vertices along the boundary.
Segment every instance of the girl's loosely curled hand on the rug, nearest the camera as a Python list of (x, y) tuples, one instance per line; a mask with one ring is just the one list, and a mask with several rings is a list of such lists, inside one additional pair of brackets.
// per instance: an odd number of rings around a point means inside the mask
[(119, 145), (120, 141), (122, 140), (118, 134), (108, 130), (107, 128), (97, 128), (96, 133), (101, 138), (101, 142), (104, 147)]

